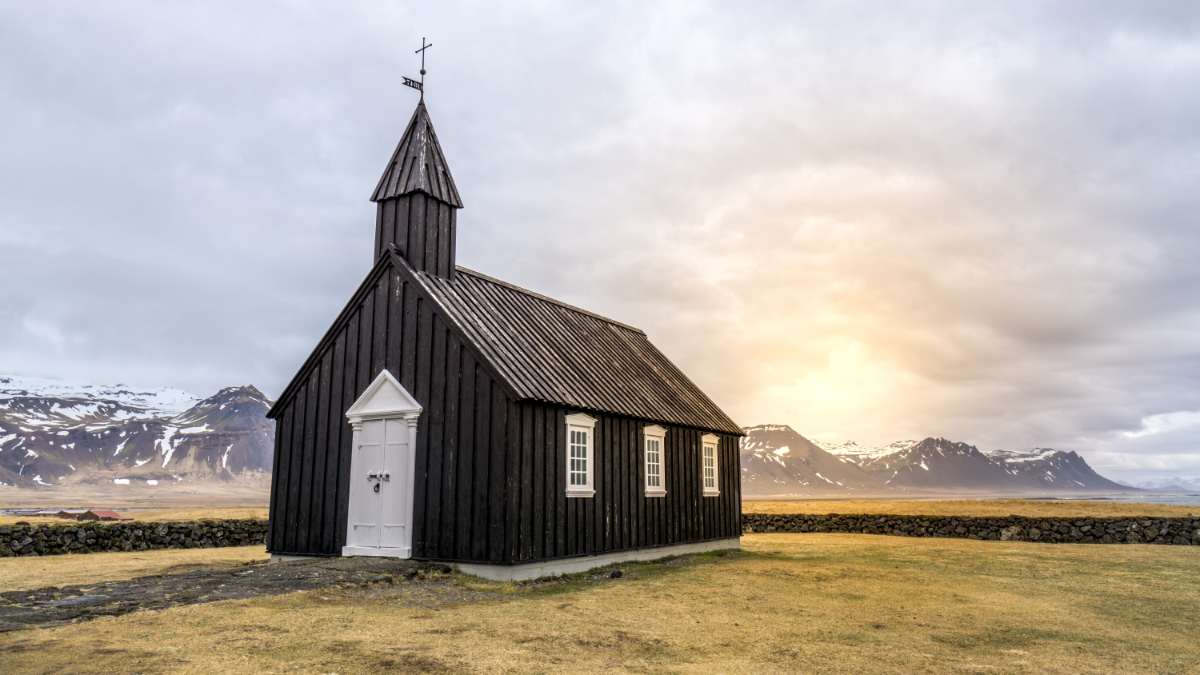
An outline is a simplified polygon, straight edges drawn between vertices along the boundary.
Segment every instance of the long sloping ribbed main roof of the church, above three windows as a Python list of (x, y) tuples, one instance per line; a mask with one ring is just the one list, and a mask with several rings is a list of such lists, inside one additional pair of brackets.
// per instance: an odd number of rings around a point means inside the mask
[(742, 434), (637, 328), (457, 271), (452, 280), (413, 275), (520, 398)]

